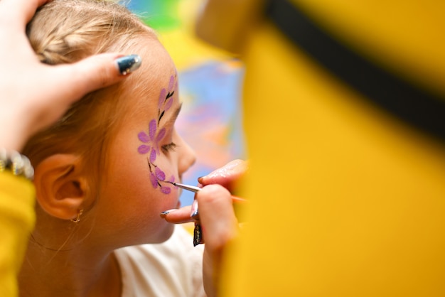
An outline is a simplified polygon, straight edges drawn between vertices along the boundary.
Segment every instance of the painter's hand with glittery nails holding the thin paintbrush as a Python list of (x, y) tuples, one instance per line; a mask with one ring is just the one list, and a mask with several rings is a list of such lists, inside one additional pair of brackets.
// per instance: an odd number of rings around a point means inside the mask
[[(232, 161), (203, 178), (199, 178), (200, 190), (195, 192), (195, 200), (199, 203), (198, 225), (199, 234), (195, 235), (194, 244), (199, 239), (205, 239), (203, 255), (203, 281), (205, 291), (215, 293), (216, 284), (220, 275), (221, 261), (225, 247), (240, 233), (237, 216), (234, 207), (247, 205), (241, 200), (234, 200), (229, 190), (236, 180), (239, 180), (247, 171), (247, 163), (244, 161)], [(240, 203), (238, 203), (240, 202)], [(161, 214), (168, 222), (181, 223), (192, 222), (192, 205), (182, 207), (179, 210), (167, 210)], [(193, 214), (192, 214), (193, 215)], [(201, 241), (201, 240), (200, 240)]]

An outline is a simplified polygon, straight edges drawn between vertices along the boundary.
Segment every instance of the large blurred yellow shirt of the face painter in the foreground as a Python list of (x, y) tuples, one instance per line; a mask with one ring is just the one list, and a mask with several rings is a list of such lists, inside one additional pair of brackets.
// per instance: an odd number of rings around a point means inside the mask
[[(240, 2), (257, 11), (259, 1)], [(294, 2), (359, 50), (444, 91), (440, 1)], [(230, 36), (218, 26), (225, 14), (206, 13), (218, 44), (218, 30)], [(251, 200), (222, 296), (445, 296), (444, 144), (374, 107), (272, 24), (247, 25), (244, 37), (219, 44), (239, 45), (246, 65)]]

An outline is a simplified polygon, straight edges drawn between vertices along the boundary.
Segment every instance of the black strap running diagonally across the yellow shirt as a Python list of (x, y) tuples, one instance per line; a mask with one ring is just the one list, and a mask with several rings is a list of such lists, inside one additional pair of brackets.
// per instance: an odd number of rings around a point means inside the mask
[(445, 98), (402, 80), (345, 47), (289, 0), (269, 0), (267, 16), (333, 75), (400, 119), (445, 141)]

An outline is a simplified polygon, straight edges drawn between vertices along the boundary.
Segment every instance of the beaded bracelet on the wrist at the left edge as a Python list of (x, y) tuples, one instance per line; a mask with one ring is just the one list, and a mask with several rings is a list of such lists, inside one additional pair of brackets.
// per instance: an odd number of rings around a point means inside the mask
[(34, 178), (34, 168), (26, 156), (17, 151), (6, 151), (0, 148), (0, 172), (11, 171), (12, 174), (23, 176), (28, 180)]

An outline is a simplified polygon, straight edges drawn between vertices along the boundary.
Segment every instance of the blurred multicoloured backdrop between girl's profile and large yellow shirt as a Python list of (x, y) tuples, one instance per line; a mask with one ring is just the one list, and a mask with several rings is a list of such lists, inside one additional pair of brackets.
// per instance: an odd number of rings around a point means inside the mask
[[(183, 183), (235, 158), (246, 158), (242, 134), (240, 88), (243, 68), (231, 55), (199, 41), (193, 22), (205, 0), (131, 0), (127, 7), (159, 33), (176, 63), (183, 109), (176, 124), (179, 134), (197, 155)], [(190, 205), (193, 193), (183, 192)]]

